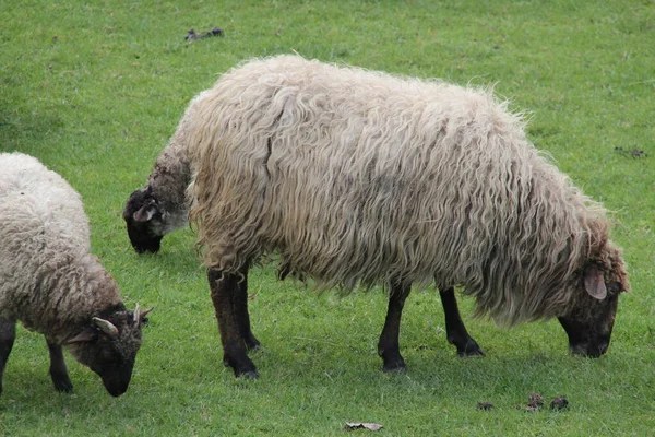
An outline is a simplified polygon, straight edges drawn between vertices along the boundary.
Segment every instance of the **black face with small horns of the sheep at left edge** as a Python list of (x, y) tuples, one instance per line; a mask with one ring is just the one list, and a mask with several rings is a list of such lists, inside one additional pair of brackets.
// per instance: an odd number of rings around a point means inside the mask
[[(94, 318), (92, 326), (67, 343), (75, 359), (99, 375), (112, 397), (123, 394), (130, 385), (145, 314), (134, 320), (132, 311), (122, 309)], [(98, 326), (98, 320), (108, 324)]]

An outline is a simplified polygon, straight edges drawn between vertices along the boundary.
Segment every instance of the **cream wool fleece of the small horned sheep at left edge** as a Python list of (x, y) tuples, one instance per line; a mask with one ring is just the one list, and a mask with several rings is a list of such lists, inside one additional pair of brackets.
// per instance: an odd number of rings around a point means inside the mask
[(0, 154), (0, 318), (61, 344), (118, 304), (118, 286), (90, 253), (80, 194), (36, 158)]

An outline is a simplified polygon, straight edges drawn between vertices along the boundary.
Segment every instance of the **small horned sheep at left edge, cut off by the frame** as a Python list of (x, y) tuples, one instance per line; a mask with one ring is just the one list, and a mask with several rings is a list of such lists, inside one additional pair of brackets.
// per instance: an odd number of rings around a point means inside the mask
[(73, 389), (66, 346), (111, 395), (124, 393), (148, 311), (126, 309), (116, 282), (90, 253), (80, 194), (36, 158), (1, 153), (0, 393), (17, 320), (46, 336), (58, 391)]

